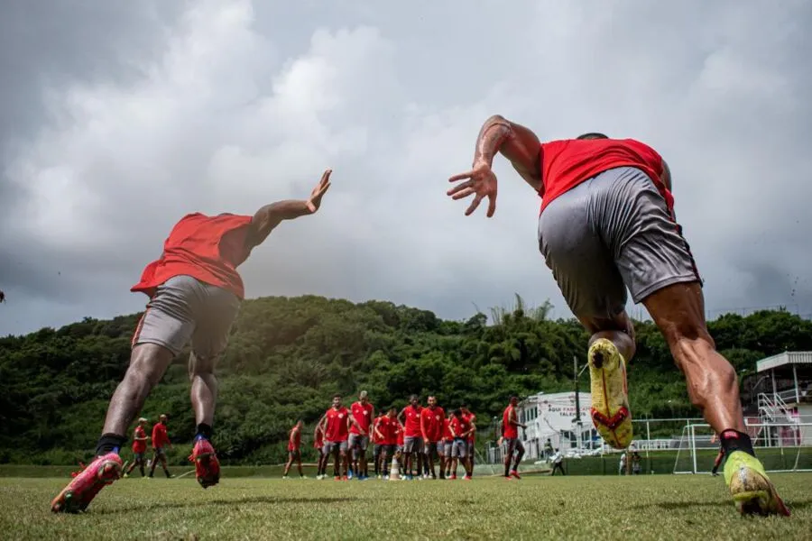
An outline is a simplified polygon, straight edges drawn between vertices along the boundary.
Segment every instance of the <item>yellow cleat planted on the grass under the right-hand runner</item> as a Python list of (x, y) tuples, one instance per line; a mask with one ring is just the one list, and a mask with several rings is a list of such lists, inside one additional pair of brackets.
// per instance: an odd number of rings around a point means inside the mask
[(724, 463), (724, 482), (743, 515), (782, 515), (789, 509), (772, 486), (759, 459), (743, 451), (734, 451)]

